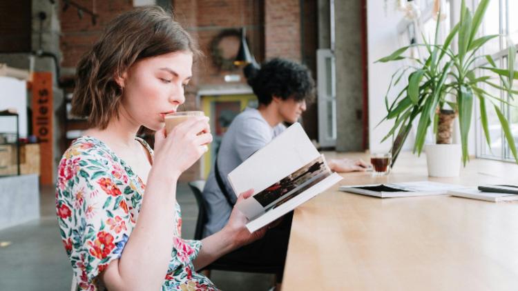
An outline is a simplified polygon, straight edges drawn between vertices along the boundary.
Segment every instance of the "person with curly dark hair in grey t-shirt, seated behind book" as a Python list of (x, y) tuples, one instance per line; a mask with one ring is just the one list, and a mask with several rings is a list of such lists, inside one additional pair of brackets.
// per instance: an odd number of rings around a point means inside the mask
[[(249, 66), (245, 72), (249, 74), (248, 83), (258, 97), (259, 106), (238, 114), (224, 134), (215, 167), (203, 190), (208, 212), (205, 236), (224, 227), (236, 204), (236, 194), (227, 180), (229, 172), (283, 132), (286, 129), (283, 123), (296, 122), (306, 110), (306, 103), (314, 99), (311, 73), (293, 61), (271, 59), (259, 70)], [(351, 172), (365, 170), (367, 164), (361, 160), (334, 159), (329, 161), (329, 167), (336, 172)], [(290, 228), (291, 214), (287, 214), (265, 237), (227, 254), (218, 263), (246, 264), (263, 270), (270, 267), (280, 283)]]

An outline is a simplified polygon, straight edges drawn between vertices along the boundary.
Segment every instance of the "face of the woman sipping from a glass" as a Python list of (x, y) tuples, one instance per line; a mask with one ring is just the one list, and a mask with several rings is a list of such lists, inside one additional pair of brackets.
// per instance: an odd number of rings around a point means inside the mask
[(122, 112), (135, 126), (160, 130), (165, 114), (185, 101), (191, 80), (193, 54), (171, 52), (137, 61), (122, 76)]

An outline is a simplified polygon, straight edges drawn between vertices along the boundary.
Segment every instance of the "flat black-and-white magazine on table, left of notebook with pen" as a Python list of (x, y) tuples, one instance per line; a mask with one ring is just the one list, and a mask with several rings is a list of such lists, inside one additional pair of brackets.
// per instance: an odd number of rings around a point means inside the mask
[(343, 185), (340, 186), (339, 190), (380, 198), (394, 198), (446, 194), (448, 190), (460, 188), (466, 187), (448, 183), (416, 181), (367, 185)]

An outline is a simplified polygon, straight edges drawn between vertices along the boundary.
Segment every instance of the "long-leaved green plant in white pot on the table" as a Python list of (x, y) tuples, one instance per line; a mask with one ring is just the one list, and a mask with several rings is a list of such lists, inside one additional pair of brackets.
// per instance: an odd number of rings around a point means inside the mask
[[(501, 103), (507, 102), (493, 96), (481, 87), (481, 85), (486, 85), (505, 90), (510, 98), (513, 98), (513, 94), (518, 94), (517, 91), (511, 89), (513, 79), (518, 79), (518, 73), (514, 70), (515, 46), (512, 44), (509, 46), (507, 69), (497, 68), (490, 55), (479, 53), (485, 43), (500, 36), (499, 34), (492, 34), (476, 38), (488, 3), (489, 0), (481, 0), (472, 16), (470, 10), (466, 8), (466, 4), (462, 1), (460, 21), (452, 28), (442, 44), (438, 43), (440, 21), (437, 21), (434, 43), (425, 41), (423, 44), (411, 44), (399, 48), (389, 56), (377, 61), (388, 62), (410, 59), (415, 64), (403, 66), (392, 75), (385, 96), (385, 106), (388, 113), (381, 122), (389, 119), (394, 120), (394, 126), (383, 138), (383, 141), (389, 137), (393, 139), (392, 165), (401, 151), (403, 142), (410, 133), (413, 121), (419, 120), (416, 127), (414, 153), (421, 154), (425, 135), (430, 126), (433, 126), (434, 133), (437, 134), (437, 146), (428, 145), (427, 148), (430, 176), (458, 176), (460, 156), (462, 156), (463, 165), (466, 165), (466, 161), (469, 159), (468, 133), (473, 114), (473, 104), (476, 100), (479, 102), (481, 124), (488, 145), (491, 142), (487, 110), (492, 107), (497, 113), (506, 141), (509, 143), (509, 148), (518, 163), (515, 141), (512, 138), (508, 120), (500, 110)], [(425, 38), (423, 37), (423, 39)], [(450, 48), (454, 39), (457, 40), (457, 52)], [(424, 59), (403, 56), (406, 50), (414, 46), (425, 48), (426, 56)], [(488, 72), (497, 74), (503, 86), (495, 83)], [(396, 95), (389, 106), (388, 94), (390, 89), (401, 81), (405, 73), (410, 73), (407, 85)], [(450, 144), (452, 143), (452, 121), (456, 117), (459, 117), (461, 145)], [(432, 157), (434, 152), (439, 153), (439, 157)], [(457, 158), (453, 157), (456, 152), (459, 155)], [(431, 164), (437, 161), (442, 161), (442, 163), (439, 166)], [(452, 164), (446, 164), (448, 161)]]

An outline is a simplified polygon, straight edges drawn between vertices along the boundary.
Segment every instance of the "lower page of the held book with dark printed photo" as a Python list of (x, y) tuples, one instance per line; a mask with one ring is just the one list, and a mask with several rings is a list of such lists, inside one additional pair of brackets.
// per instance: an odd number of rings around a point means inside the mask
[(236, 205), (244, 215), (252, 220), (269, 210), (293, 199), (311, 186), (329, 177), (332, 172), (323, 155), (318, 156), (295, 172), (280, 179), (265, 190), (262, 190)]

